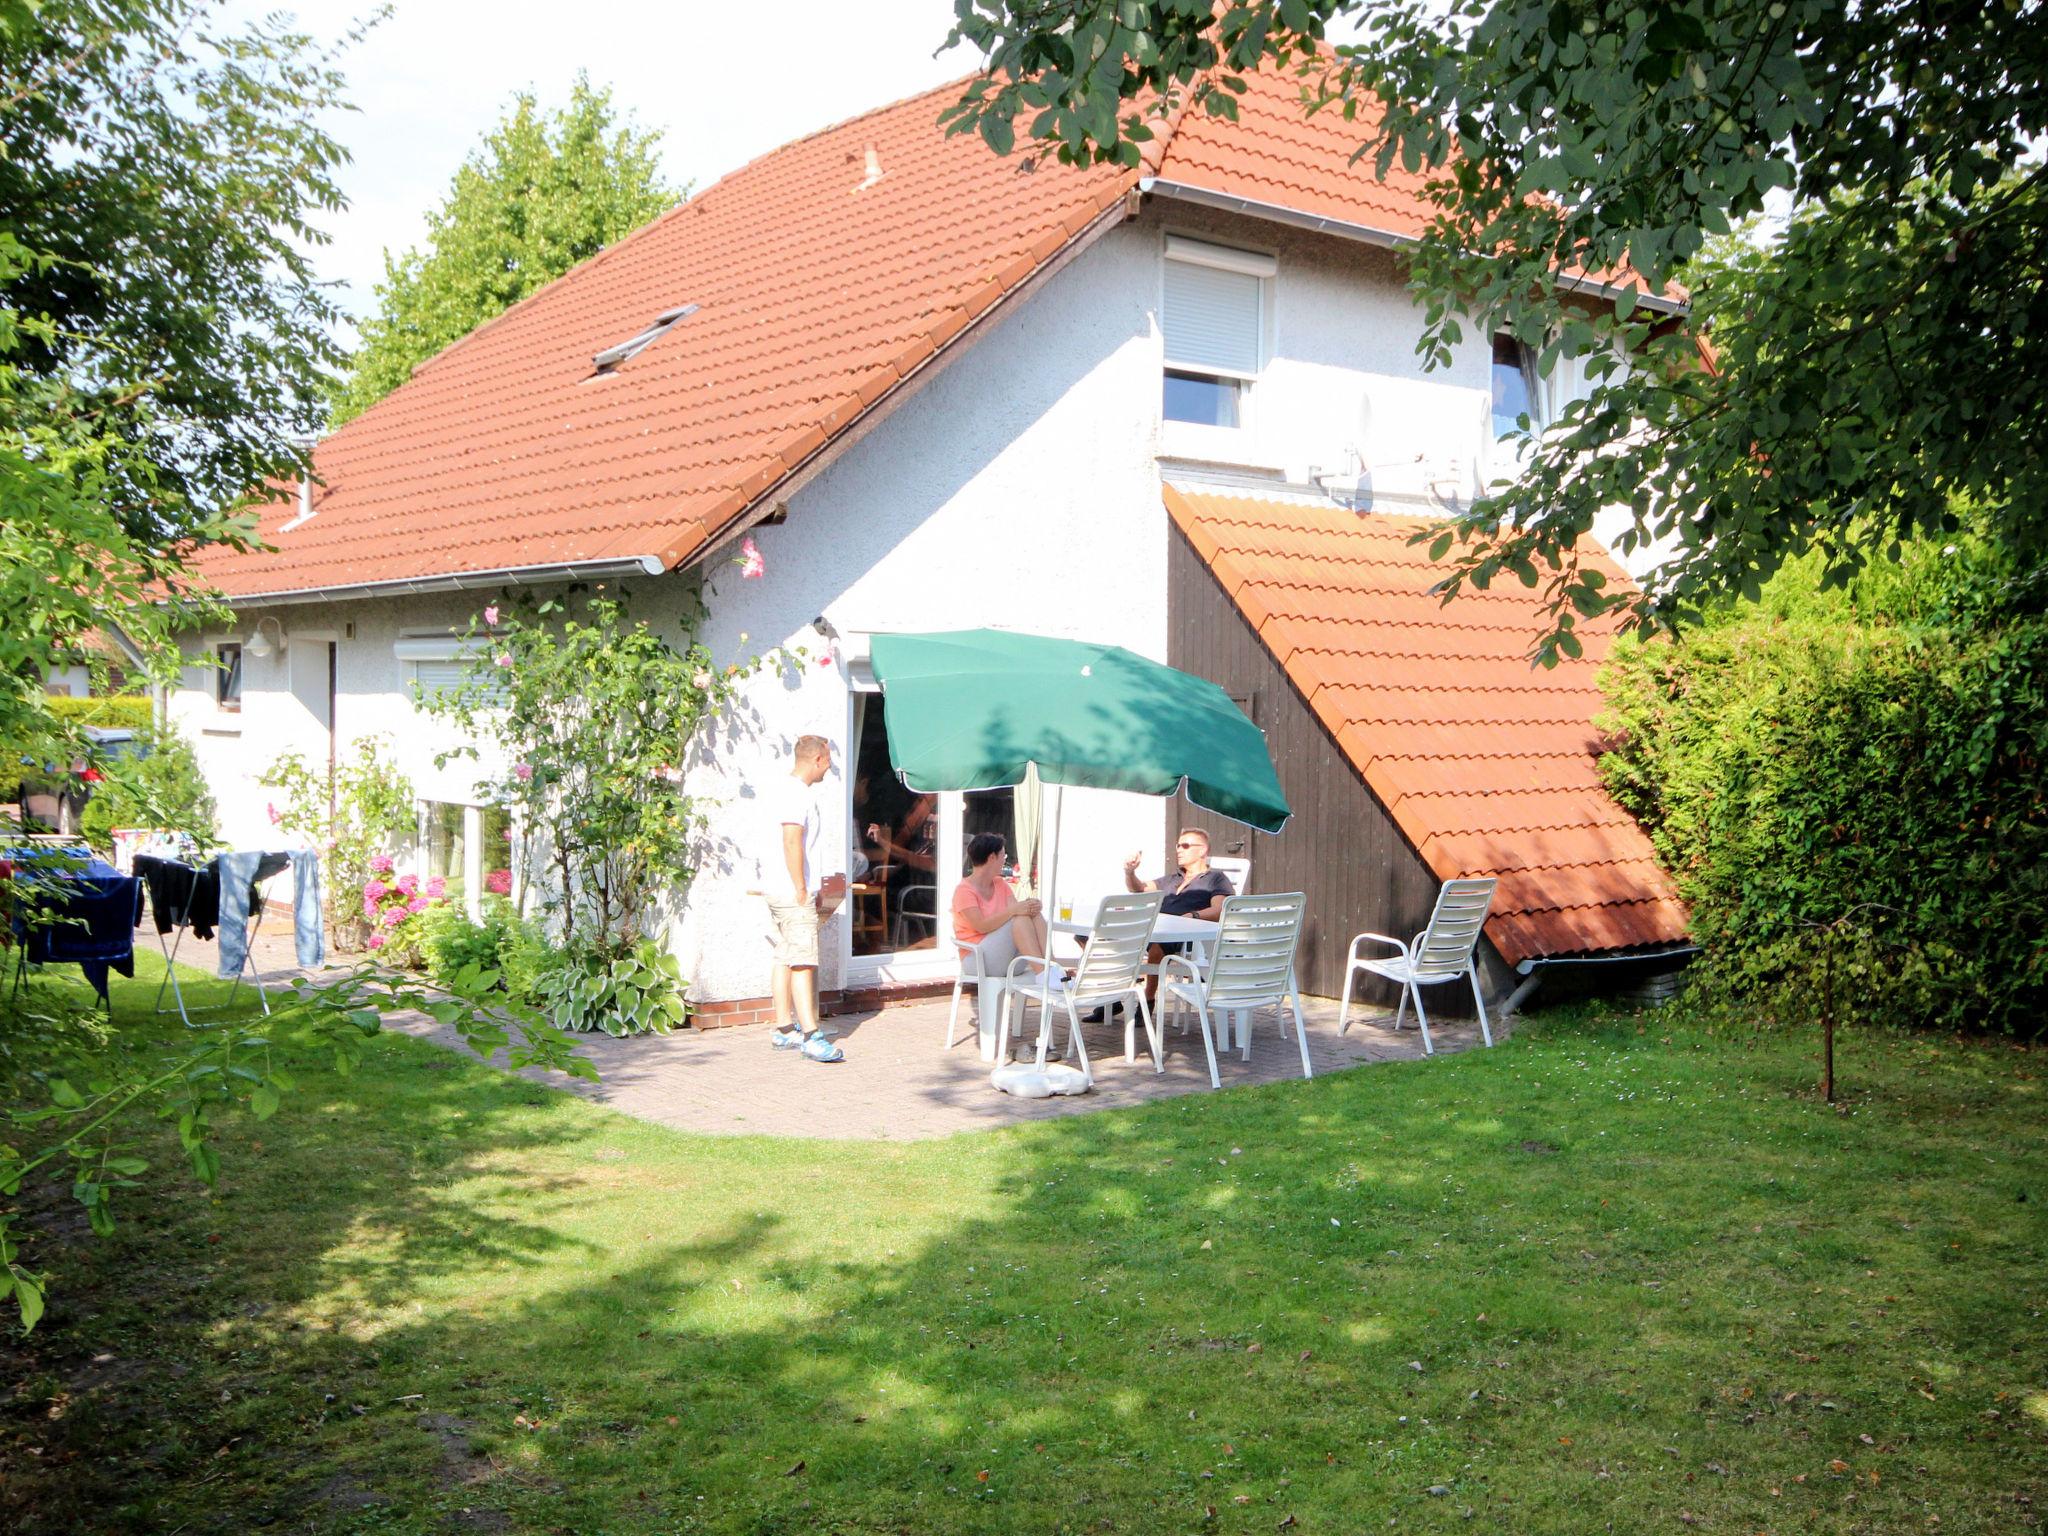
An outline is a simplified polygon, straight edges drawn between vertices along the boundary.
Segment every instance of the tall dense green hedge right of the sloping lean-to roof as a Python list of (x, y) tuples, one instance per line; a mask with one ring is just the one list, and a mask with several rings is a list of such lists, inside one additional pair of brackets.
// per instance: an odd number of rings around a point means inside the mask
[(2038, 614), (1765, 604), (1622, 643), (1604, 686), (1608, 784), (1692, 903), (1706, 987), (1804, 1018), (1827, 977), (1845, 1018), (2044, 1032)]

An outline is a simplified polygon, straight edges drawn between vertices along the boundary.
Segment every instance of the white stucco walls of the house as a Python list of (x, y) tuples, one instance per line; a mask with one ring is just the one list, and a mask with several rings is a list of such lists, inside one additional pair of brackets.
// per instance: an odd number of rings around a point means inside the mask
[[(1186, 432), (1159, 420), (1157, 307), (1165, 231), (1210, 238), (1278, 258), (1270, 360), (1253, 385), (1247, 426), (1235, 434)], [(707, 571), (705, 639), (721, 659), (778, 645), (825, 649), (813, 618), (842, 641), (829, 666), (805, 664), (752, 680), (743, 709), (700, 741), (690, 786), (713, 801), (715, 842), (668, 938), (698, 999), (758, 997), (768, 989), (762, 909), (748, 895), (762, 829), (754, 815), (766, 774), (788, 768), (788, 745), (815, 731), (850, 735), (848, 653), (877, 631), (993, 625), (1128, 645), (1163, 657), (1167, 641), (1169, 473), (1188, 459), (1268, 467), (1303, 479), (1341, 467), (1360, 446), (1360, 399), (1372, 399), (1368, 455), (1407, 465), (1374, 475), (1376, 506), (1415, 512), (1425, 477), (1468, 489), (1491, 453), (1485, 338), (1454, 369), (1423, 375), (1415, 360), (1419, 313), (1386, 252), (1257, 225), (1184, 207), (1151, 207), (1083, 252), (1018, 311), (930, 379), (864, 440), (788, 500), (786, 518), (756, 528), (766, 575), (743, 580), (725, 551)], [(1415, 457), (1421, 465), (1415, 465)], [(633, 582), (637, 612), (674, 631), (688, 578)], [(410, 666), (393, 655), (401, 635), (461, 629), (479, 594), (264, 610), (287, 635), (332, 635), (338, 651), (336, 733), (385, 735), (418, 791), (465, 799), (463, 764), (434, 768), (440, 727), (408, 696)], [(244, 633), (254, 614), (244, 614)], [(195, 641), (195, 653), (215, 639)], [(205, 668), (186, 674), (172, 717), (195, 739), (221, 803), (223, 834), (264, 842), (268, 791), (254, 776), (281, 752), (326, 758), (326, 735), (293, 694), (291, 659), (322, 645), (258, 659), (244, 655), (238, 717), (213, 705)], [(305, 668), (309, 674), (313, 668)], [(324, 700), (324, 676), (317, 698)], [(315, 707), (317, 709), (317, 707)], [(848, 805), (842, 776), (829, 803)], [(1169, 807), (1128, 795), (1069, 791), (1061, 836), (1061, 891), (1120, 889), (1120, 866), (1143, 848), (1161, 868)], [(846, 868), (848, 815), (825, 829), (825, 866)], [(942, 848), (940, 889), (958, 879)], [(842, 979), (846, 918), (827, 942), (823, 985)]]

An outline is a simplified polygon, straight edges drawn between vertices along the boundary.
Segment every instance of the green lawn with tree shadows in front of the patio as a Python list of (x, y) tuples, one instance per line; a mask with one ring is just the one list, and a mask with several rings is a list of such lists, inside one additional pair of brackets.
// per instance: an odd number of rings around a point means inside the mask
[(0, 1530), (2038, 1530), (2044, 1061), (1849, 1034), (1835, 1112), (1806, 1038), (1536, 1016), (840, 1145), (301, 1053), (217, 1194), (31, 1249)]

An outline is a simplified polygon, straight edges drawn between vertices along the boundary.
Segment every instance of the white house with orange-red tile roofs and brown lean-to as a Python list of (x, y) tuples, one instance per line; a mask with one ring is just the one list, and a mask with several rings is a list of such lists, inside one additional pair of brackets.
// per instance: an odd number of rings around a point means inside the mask
[[(956, 94), (797, 139), (584, 262), (328, 436), (315, 481), (262, 508), (264, 549), (209, 551), (236, 621), (195, 637), (170, 709), (227, 834), (264, 836), (254, 780), (281, 752), (385, 737), (420, 793), (414, 856), (473, 899), (504, 817), (473, 768), (434, 762), (451, 743), (414, 690), (471, 664), (457, 635), (489, 594), (602, 584), (676, 633), (700, 604), (719, 655), (825, 657), (764, 676), (690, 768), (715, 846), (668, 942), (709, 1012), (766, 993), (750, 811), (795, 735), (840, 743), (827, 862), (866, 874), (827, 989), (950, 977), (965, 838), (1036, 836), (1012, 791), (920, 803), (891, 778), (866, 668), (887, 631), (1122, 643), (1208, 666), (1270, 733), (1284, 719), (1296, 817), (1227, 836), (1257, 889), (1321, 893), (1311, 989), (1350, 934), (1417, 928), (1452, 874), (1501, 877), (1501, 985), (1522, 961), (1677, 942), (1593, 768), (1604, 639), (1532, 672), (1534, 604), (1442, 606), (1407, 543), (1513, 469), (1501, 420), (1579, 387), (1503, 338), (1419, 369), (1399, 268), (1417, 182), (1354, 166), (1358, 125), (1307, 117), (1284, 78), (1235, 121), (1169, 121), (1137, 168), (946, 137)], [(1182, 815), (1069, 797), (1061, 885), (1120, 887), (1133, 848), (1163, 864)], [(1313, 887), (1317, 862), (1352, 874)]]

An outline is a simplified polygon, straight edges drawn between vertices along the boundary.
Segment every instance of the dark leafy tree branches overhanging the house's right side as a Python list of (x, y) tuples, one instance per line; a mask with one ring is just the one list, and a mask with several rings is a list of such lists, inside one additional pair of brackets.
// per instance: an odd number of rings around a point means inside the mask
[[(1335, 20), (1358, 41), (1325, 45)], [(1135, 164), (1153, 111), (1233, 115), (1247, 72), (1286, 70), (1305, 111), (1358, 123), (1360, 174), (1425, 170), (1425, 360), (1505, 330), (1595, 383), (1436, 545), (1458, 545), (1448, 592), (1542, 586), (1552, 662), (1579, 614), (1683, 621), (1804, 551), (1847, 580), (1950, 532), (1958, 500), (2040, 557), (2044, 20), (2040, 0), (956, 0), (989, 74), (948, 121)], [(1772, 193), (1798, 217), (1726, 301), (1700, 295), (1749, 322), (1706, 369), (1640, 297)], [(1620, 295), (1589, 301), (1585, 274)], [(1579, 567), (1604, 508), (1630, 514), (1622, 551), (1671, 551), (1640, 594)]]

